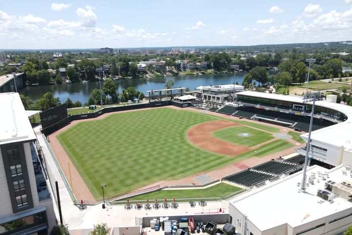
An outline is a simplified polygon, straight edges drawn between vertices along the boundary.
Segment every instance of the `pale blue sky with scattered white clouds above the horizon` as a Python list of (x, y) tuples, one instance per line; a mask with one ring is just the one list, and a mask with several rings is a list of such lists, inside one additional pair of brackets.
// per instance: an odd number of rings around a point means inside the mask
[(352, 40), (352, 0), (16, 0), (0, 48), (249, 46)]

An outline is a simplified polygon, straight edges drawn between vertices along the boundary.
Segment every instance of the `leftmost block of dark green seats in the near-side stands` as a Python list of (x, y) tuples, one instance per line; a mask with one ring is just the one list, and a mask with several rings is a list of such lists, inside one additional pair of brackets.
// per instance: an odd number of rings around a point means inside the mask
[(271, 177), (272, 177), (272, 175), (268, 175), (268, 174), (264, 174), (264, 173), (260, 173), (260, 172), (256, 172), (256, 171), (252, 171), (252, 170), (244, 170), (238, 174), (229, 176), (223, 180), (227, 180), (229, 182), (243, 185), (246, 187), (251, 187), (251, 186), (257, 185), (257, 184), (259, 184), (259, 183), (261, 183)]

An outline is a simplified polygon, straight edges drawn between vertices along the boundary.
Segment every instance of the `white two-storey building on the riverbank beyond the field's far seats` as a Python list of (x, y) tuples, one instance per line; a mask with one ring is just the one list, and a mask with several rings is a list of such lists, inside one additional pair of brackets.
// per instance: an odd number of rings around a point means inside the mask
[(211, 85), (197, 87), (196, 94), (198, 98), (223, 103), (226, 101), (232, 101), (232, 95), (243, 90), (243, 86), (233, 84), (217, 86)]

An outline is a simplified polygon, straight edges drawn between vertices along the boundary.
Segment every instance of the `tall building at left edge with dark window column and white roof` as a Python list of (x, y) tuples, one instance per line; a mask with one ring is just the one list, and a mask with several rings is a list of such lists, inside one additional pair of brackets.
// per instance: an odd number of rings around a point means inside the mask
[(48, 234), (56, 216), (36, 136), (18, 93), (0, 103), (0, 234)]

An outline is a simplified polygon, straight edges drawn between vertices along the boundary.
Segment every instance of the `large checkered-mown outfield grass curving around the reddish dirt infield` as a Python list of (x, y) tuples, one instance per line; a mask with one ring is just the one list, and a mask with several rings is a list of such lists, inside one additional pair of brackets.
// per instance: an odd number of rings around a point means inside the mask
[[(100, 186), (106, 184), (109, 198), (253, 156), (215, 154), (187, 140), (190, 127), (219, 119), (226, 118), (171, 108), (139, 110), (80, 122), (57, 138), (92, 195), (102, 198)], [(260, 124), (256, 127), (266, 128)]]

